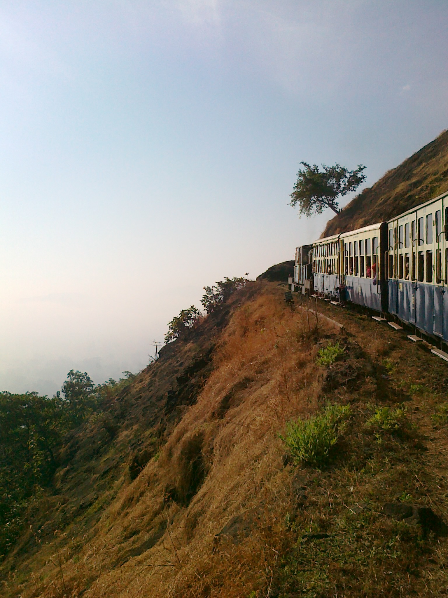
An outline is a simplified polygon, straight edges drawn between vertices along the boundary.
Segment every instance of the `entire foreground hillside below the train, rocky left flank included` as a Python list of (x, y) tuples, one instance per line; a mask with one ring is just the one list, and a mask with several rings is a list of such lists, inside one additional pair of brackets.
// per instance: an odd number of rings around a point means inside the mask
[[(340, 329), (306, 308), (248, 283), (111, 394), (67, 440), (2, 596), (446, 593), (446, 366), (363, 313), (318, 306)], [(350, 410), (329, 462), (293, 462), (279, 434), (328, 403)]]

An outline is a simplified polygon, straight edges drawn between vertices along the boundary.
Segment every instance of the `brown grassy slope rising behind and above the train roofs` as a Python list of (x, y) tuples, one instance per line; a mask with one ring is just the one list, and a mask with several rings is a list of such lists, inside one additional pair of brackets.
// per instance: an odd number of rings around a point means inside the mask
[(322, 237), (382, 222), (448, 190), (448, 132), (388, 170), (327, 222)]

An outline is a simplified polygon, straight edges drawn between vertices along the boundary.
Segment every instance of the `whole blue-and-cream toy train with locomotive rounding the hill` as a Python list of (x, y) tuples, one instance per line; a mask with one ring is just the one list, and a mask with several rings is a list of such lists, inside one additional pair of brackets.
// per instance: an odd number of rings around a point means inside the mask
[(297, 247), (290, 282), (448, 342), (448, 192), (388, 222)]

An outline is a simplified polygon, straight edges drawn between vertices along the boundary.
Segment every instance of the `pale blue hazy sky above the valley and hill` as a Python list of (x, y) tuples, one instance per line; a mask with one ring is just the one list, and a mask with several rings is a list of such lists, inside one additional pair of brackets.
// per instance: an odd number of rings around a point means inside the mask
[[(446, 0), (1, 0), (0, 390), (139, 371), (202, 287), (293, 259), (448, 127)], [(344, 205), (349, 201), (347, 197)]]

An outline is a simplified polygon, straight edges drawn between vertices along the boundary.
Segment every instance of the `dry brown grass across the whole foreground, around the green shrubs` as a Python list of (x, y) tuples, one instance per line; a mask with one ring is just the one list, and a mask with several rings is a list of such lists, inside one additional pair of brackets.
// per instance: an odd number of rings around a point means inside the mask
[[(290, 310), (275, 285), (247, 293), (216, 339), (213, 373), (158, 460), (133, 482), (116, 481), (96, 527), (82, 530), (80, 518), (42, 546), (33, 578), (10, 576), (5, 596), (447, 593), (447, 540), (382, 512), (409, 494), (448, 520), (447, 431), (431, 420), (446, 399), (444, 368), (370, 316), (321, 304), (345, 327), (343, 359), (324, 370), (315, 358), (335, 328), (320, 318), (314, 329), (306, 306)], [(285, 467), (278, 432), (324, 401), (351, 405), (331, 465)], [(379, 443), (367, 419), (403, 401), (409, 426)], [(240, 537), (219, 535), (232, 521)]]

